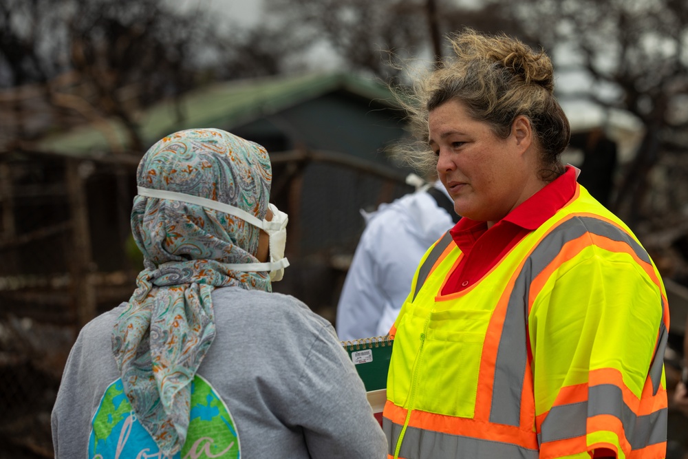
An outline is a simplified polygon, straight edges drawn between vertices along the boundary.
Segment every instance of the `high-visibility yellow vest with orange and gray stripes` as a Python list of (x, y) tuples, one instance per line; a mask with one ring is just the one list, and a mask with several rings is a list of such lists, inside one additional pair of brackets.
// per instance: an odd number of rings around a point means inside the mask
[(389, 457), (664, 458), (667, 296), (629, 228), (574, 198), (475, 285), (462, 253), (422, 259), (391, 334)]

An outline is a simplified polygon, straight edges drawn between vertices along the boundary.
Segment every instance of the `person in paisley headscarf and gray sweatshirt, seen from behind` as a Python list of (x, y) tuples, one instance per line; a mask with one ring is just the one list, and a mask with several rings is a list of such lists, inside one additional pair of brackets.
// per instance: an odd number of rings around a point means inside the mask
[(287, 215), (267, 151), (219, 129), (143, 156), (144, 270), (80, 331), (52, 412), (56, 458), (376, 458), (386, 440), (329, 322), (272, 292)]

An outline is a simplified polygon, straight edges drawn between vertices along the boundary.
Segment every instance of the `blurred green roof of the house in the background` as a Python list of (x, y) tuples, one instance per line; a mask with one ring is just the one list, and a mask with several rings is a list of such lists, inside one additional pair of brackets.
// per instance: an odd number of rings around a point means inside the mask
[[(240, 125), (334, 90), (345, 90), (395, 106), (389, 89), (378, 81), (350, 74), (307, 74), (215, 83), (178, 101), (164, 100), (140, 114), (140, 134), (148, 147), (181, 129)], [(178, 109), (182, 119), (177, 119)], [(109, 140), (108, 140), (109, 139)], [(67, 156), (102, 156), (130, 151), (125, 128), (117, 119), (78, 127), (37, 142), (39, 151)], [(143, 153), (143, 152), (140, 152)]]

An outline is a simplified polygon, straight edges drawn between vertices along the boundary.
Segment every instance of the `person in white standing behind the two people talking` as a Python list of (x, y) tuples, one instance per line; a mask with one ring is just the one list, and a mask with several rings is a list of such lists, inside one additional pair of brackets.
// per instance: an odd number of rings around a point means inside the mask
[(337, 306), (335, 325), (342, 341), (389, 332), (421, 257), (459, 218), (439, 181), (362, 213), (366, 227)]

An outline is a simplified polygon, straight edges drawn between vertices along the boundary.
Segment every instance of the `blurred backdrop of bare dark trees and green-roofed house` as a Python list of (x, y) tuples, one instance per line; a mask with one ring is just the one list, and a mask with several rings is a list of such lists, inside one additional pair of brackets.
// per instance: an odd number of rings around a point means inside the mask
[[(87, 321), (127, 301), (136, 166), (217, 127), (264, 145), (288, 212), (279, 292), (334, 323), (372, 211), (413, 187), (387, 89), (466, 26), (544, 47), (572, 124), (565, 162), (654, 258), (669, 291), (667, 386), (688, 310), (685, 0), (0, 0), (0, 459), (52, 458), (50, 411)], [(688, 451), (671, 407), (669, 458)]]

